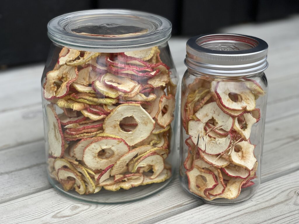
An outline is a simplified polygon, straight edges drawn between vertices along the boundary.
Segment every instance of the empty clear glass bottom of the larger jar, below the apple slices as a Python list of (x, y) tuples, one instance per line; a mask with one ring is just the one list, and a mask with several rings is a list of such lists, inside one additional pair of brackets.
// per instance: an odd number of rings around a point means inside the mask
[(161, 191), (172, 181), (172, 179), (173, 175), (164, 182), (138, 186), (129, 190), (120, 189), (119, 191), (107, 191), (102, 188), (100, 192), (96, 194), (80, 195), (76, 191), (64, 191), (61, 184), (48, 175), (48, 181), (51, 183), (51, 185), (63, 194), (77, 200), (99, 204), (118, 204), (141, 200), (157, 193), (158, 191)]

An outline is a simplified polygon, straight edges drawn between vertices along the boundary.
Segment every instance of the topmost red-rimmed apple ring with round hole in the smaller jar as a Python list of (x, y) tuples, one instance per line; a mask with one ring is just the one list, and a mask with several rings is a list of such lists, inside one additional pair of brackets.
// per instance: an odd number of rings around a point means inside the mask
[(255, 108), (254, 94), (244, 82), (218, 82), (215, 93), (222, 106), (229, 110), (252, 111)]

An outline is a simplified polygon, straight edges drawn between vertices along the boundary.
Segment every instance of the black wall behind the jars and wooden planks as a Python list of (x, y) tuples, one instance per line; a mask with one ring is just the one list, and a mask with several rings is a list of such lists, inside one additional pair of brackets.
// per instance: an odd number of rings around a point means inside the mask
[[(50, 45), (48, 21), (63, 13), (97, 8), (159, 14), (172, 22), (173, 36), (195, 36), (299, 13), (299, 0), (1, 0), (0, 68), (44, 62)], [(298, 28), (299, 24), (294, 27)]]

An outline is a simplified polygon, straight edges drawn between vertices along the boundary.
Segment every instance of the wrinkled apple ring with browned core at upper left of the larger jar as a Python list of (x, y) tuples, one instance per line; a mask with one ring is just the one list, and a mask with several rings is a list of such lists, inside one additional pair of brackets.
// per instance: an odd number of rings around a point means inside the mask
[(77, 67), (62, 65), (58, 70), (49, 71), (44, 84), (45, 99), (52, 100), (66, 96), (71, 83), (77, 78)]

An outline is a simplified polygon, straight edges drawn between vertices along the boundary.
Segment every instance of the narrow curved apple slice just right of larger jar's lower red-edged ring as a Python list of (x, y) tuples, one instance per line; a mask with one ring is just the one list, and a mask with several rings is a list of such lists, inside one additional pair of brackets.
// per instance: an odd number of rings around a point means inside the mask
[(127, 163), (133, 159), (135, 156), (141, 155), (148, 150), (153, 148), (151, 145), (143, 145), (137, 148), (132, 149), (131, 151), (124, 154), (122, 157), (120, 157), (114, 164), (114, 166), (111, 169), (111, 175), (117, 175), (122, 174), (126, 172), (127, 170)]

